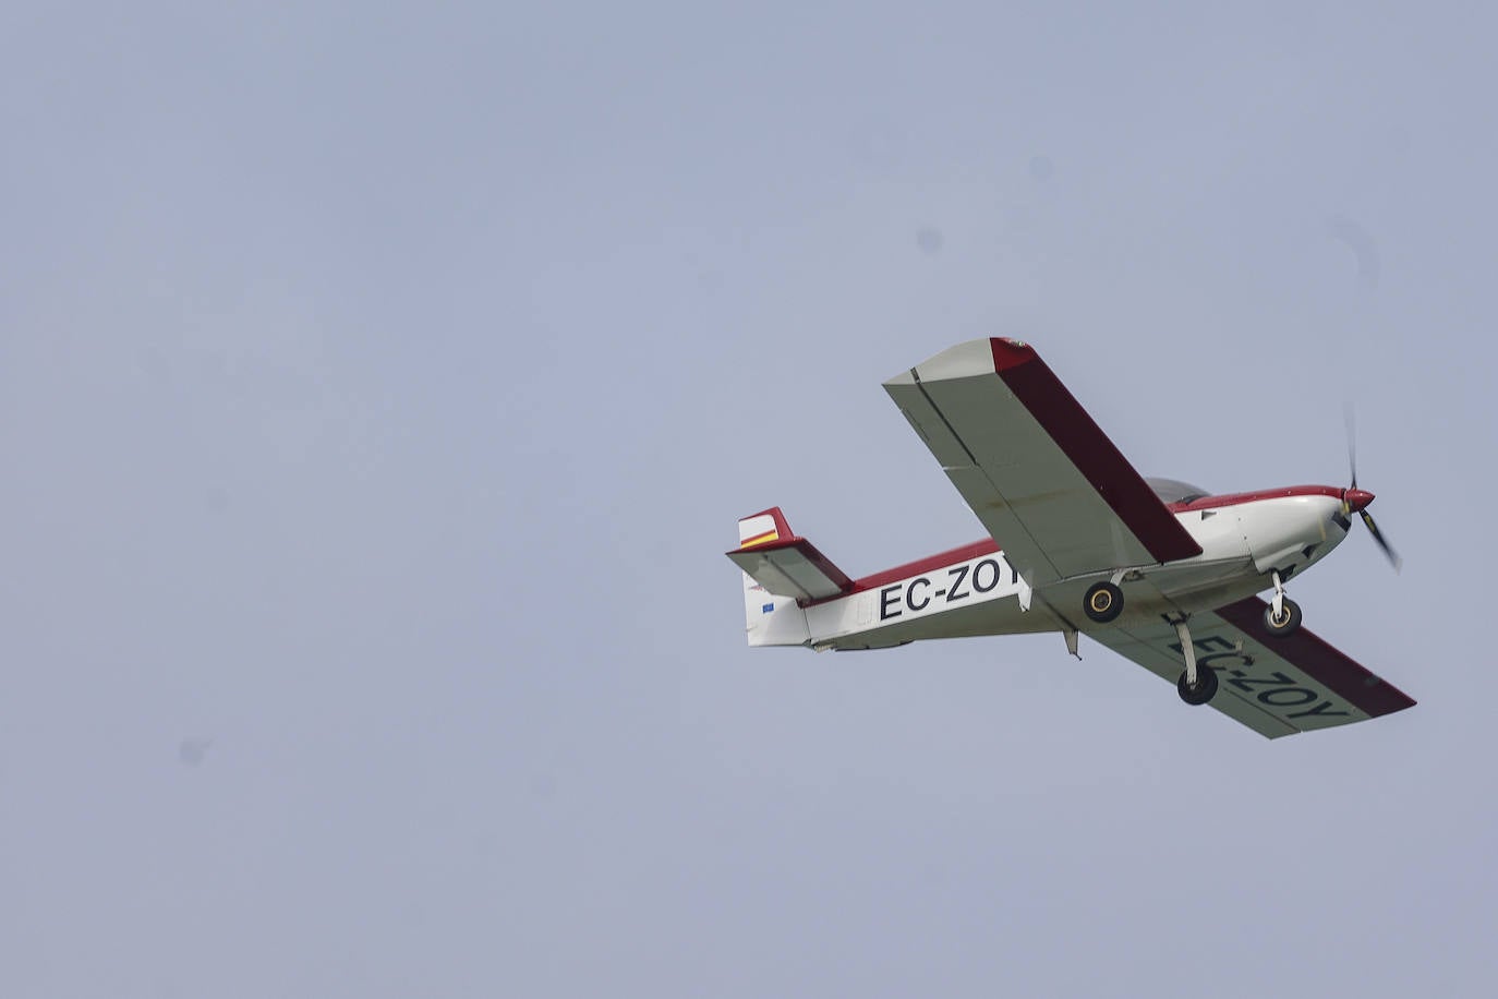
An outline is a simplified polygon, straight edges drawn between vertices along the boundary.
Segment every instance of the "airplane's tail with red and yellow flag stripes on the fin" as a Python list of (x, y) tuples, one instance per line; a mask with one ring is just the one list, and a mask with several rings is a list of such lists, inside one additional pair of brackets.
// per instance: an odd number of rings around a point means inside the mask
[(779, 506), (739, 521), (739, 548), (728, 557), (745, 571), (745, 625), (750, 646), (804, 646), (810, 641), (803, 601), (852, 589), (837, 566), (791, 533)]

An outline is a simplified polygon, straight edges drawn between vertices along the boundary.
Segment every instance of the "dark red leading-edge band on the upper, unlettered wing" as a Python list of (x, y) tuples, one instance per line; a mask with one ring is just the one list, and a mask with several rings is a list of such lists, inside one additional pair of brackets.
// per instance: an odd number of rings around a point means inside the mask
[(999, 377), (1149, 553), (1159, 562), (1201, 554), (1201, 547), (1040, 355), (1007, 340), (995, 338), (992, 343)]

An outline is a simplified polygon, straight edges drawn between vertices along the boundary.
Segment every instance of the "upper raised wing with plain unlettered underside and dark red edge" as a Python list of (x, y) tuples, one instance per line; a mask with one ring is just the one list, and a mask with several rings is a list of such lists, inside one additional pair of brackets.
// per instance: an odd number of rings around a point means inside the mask
[(884, 388), (1031, 586), (1201, 554), (1023, 343), (971, 340)]

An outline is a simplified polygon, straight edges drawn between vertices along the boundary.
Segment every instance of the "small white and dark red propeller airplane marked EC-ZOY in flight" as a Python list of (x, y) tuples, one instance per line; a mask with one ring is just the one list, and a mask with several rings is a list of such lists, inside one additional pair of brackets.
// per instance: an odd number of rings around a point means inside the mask
[[(1416, 701), (1300, 626), (1285, 584), (1330, 554), (1374, 494), (1351, 484), (1210, 494), (1146, 479), (1034, 347), (942, 350), (884, 383), (989, 538), (849, 578), (780, 508), (739, 521), (750, 646), (890, 649), (927, 638), (1079, 635), (1269, 738)], [(1257, 596), (1272, 590), (1269, 601)]]

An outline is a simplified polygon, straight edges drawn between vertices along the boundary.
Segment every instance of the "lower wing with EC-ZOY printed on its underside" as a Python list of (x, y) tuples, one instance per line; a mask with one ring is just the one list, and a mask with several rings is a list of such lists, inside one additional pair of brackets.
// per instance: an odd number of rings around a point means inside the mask
[[(1255, 732), (1278, 738), (1402, 711), (1414, 699), (1303, 628), (1270, 637), (1269, 605), (1251, 596), (1191, 616), (1197, 666), (1218, 672), (1210, 704)], [(1159, 622), (1104, 628), (1092, 638), (1174, 683), (1185, 669), (1176, 629)]]

